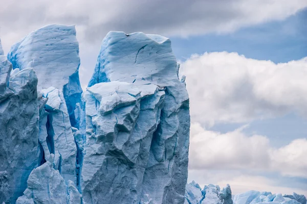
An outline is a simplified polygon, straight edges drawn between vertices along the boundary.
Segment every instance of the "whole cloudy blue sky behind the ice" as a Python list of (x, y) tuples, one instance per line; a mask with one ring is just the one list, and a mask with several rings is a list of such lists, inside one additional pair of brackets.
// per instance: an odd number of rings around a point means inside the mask
[(188, 182), (307, 195), (307, 1), (0, 0), (5, 52), (75, 24), (82, 87), (108, 31), (164, 35), (190, 96)]

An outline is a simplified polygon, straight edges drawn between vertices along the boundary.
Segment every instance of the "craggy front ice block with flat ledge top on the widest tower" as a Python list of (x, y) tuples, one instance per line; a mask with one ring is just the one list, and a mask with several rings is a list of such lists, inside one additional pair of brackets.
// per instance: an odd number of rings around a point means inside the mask
[[(164, 91), (152, 84), (99, 83), (87, 88), (82, 194), (92, 203), (155, 203), (142, 180)], [(116, 97), (113, 97), (116, 95)]]

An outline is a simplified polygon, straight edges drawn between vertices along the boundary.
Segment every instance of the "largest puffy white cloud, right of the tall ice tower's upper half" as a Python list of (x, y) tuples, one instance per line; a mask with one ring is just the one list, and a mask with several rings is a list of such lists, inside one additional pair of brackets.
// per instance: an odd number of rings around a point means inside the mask
[(307, 57), (275, 64), (237, 53), (194, 55), (181, 65), (193, 121), (237, 123), (296, 112), (307, 117)]

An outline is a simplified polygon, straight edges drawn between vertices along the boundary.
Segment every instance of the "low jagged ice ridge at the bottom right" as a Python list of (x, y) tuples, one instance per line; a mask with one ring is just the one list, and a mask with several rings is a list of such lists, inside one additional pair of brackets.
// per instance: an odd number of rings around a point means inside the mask
[(220, 186), (209, 184), (203, 189), (192, 181), (186, 185), (184, 204), (306, 204), (306, 197), (293, 193), (282, 195), (280, 193), (247, 191), (232, 195), (230, 185), (221, 190)]

